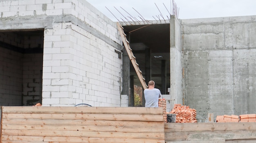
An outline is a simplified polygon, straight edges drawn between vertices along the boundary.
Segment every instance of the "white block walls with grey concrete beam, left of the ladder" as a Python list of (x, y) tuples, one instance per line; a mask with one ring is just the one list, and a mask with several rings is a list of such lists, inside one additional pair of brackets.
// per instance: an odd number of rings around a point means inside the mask
[[(85, 0), (5, 0), (0, 12), (0, 30), (44, 29), (43, 106), (120, 106), (122, 60), (115, 50), (121, 52), (121, 40), (115, 22)], [(25, 85), (23, 94), (37, 88)]]

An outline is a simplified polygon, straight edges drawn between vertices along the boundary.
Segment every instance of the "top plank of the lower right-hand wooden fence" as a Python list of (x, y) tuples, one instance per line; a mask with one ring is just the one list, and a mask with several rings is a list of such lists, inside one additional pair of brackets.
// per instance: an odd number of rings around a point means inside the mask
[(165, 123), (165, 132), (256, 130), (255, 123)]

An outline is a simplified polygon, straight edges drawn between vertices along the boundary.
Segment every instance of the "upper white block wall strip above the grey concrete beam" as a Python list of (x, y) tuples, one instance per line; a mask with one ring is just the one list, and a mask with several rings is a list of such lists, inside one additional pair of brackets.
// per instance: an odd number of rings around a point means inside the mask
[[(85, 0), (0, 0), (2, 20), (33, 19), (46, 16), (72, 15), (106, 37), (121, 44), (116, 23)], [(36, 27), (36, 22), (31, 27)], [(25, 26), (24, 29), (28, 27)], [(22, 26), (22, 24), (20, 24)], [(7, 26), (11, 27), (11, 26)], [(17, 27), (11, 27), (17, 29)]]

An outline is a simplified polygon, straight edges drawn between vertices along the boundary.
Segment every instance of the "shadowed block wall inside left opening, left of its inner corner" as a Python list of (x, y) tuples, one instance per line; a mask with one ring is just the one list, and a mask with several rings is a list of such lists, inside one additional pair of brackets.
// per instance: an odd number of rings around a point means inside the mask
[(20, 106), (22, 91), (22, 54), (0, 47), (0, 104)]

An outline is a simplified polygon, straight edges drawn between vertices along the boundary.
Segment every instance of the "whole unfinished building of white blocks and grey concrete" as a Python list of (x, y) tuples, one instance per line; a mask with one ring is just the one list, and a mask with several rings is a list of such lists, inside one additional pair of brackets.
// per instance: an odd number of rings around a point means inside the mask
[(188, 105), (198, 122), (255, 113), (256, 16), (174, 14), (120, 33), (85, 0), (2, 0), (0, 12), (1, 106), (132, 106), (133, 85), (155, 80), (167, 111)]

